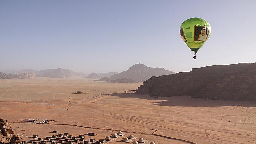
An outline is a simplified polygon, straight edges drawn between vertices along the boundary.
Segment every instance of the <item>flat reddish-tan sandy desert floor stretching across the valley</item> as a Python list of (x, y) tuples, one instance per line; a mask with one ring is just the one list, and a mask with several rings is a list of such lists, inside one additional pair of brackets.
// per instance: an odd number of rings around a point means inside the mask
[[(107, 83), (86, 78), (0, 80), (0, 117), (30, 140), (67, 132), (105, 138), (123, 131), (148, 144), (256, 144), (256, 103), (125, 94), (142, 83)], [(84, 91), (87, 94), (72, 94)], [(54, 120), (49, 124), (25, 119)], [(120, 144), (121, 136), (110, 143)], [(137, 138), (137, 140), (138, 140)], [(76, 143), (75, 143), (76, 144)]]

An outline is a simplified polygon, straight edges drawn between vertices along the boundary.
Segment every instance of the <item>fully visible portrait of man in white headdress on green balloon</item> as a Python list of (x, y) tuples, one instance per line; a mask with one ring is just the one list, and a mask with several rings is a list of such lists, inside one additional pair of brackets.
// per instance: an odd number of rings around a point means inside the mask
[(208, 30), (207, 27), (194, 27), (195, 41), (206, 41)]

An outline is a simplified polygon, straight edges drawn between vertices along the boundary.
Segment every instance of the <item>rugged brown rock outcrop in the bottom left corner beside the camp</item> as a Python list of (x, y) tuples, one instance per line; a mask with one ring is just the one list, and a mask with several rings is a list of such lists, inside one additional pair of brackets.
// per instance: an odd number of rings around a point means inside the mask
[(0, 144), (24, 144), (20, 136), (15, 135), (11, 125), (0, 118)]

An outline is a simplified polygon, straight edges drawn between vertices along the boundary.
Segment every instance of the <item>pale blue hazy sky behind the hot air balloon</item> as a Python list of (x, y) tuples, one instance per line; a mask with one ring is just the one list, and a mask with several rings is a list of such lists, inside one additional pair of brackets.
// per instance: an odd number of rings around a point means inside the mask
[[(121, 72), (142, 63), (174, 72), (256, 62), (256, 1), (0, 0), (0, 69)], [(193, 59), (179, 28), (206, 19)]]

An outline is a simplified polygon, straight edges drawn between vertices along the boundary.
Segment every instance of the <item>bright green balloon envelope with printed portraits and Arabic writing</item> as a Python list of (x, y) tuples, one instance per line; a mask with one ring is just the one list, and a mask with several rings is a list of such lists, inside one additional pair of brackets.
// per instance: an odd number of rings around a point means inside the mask
[(211, 34), (210, 24), (202, 18), (190, 18), (180, 26), (180, 36), (187, 46), (197, 53)]

